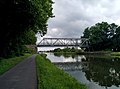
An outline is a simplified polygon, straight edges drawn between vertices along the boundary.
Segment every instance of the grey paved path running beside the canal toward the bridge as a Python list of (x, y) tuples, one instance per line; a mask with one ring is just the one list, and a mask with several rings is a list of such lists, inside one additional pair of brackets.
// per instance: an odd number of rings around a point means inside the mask
[(0, 76), (0, 89), (37, 89), (35, 57), (28, 57)]

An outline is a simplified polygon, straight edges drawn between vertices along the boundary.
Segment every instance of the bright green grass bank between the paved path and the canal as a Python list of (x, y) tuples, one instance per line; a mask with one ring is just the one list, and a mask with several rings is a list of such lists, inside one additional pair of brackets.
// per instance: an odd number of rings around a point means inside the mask
[(36, 57), (38, 89), (87, 89), (85, 85), (57, 68), (45, 55)]

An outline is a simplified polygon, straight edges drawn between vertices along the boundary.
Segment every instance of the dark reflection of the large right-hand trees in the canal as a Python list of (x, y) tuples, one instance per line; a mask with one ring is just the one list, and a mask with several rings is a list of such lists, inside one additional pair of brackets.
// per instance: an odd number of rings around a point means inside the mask
[(111, 87), (120, 85), (120, 59), (89, 58), (89, 70), (85, 76), (101, 86)]

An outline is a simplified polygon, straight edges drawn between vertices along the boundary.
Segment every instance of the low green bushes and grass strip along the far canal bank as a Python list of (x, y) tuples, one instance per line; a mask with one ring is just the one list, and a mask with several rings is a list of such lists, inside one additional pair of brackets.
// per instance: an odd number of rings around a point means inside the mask
[[(107, 56), (107, 57), (119, 57), (120, 52), (113, 52), (113, 51), (84, 51), (83, 49), (76, 49), (76, 48), (64, 48), (64, 49), (54, 49), (51, 51), (56, 56), (64, 55), (65, 57), (71, 56), (74, 57), (74, 55), (91, 55), (91, 56)], [(102, 57), (101, 56), (101, 57)]]

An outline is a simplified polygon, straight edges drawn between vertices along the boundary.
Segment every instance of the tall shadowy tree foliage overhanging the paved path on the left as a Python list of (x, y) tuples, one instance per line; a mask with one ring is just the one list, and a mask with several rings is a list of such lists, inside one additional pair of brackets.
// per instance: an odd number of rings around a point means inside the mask
[(0, 0), (0, 57), (20, 55), (23, 45), (36, 41), (33, 34), (46, 33), (47, 20), (53, 15), (52, 3), (52, 0)]

